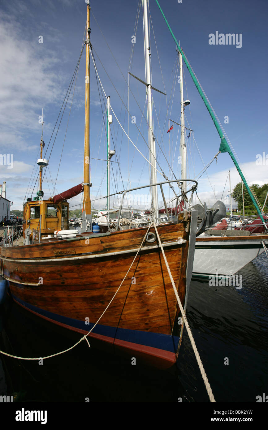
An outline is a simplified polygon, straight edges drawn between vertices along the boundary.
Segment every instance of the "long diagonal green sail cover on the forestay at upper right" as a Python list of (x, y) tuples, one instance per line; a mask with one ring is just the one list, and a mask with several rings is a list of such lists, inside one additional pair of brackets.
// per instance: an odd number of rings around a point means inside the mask
[[(232, 153), (232, 151), (231, 151), (231, 149), (230, 149), (230, 147), (229, 147), (229, 145), (228, 145), (228, 143), (227, 143), (227, 141), (226, 141), (226, 139), (225, 139), (225, 137), (224, 137), (224, 135), (223, 135), (222, 129), (221, 129), (221, 127), (220, 127), (220, 125), (219, 125), (219, 123), (218, 123), (218, 121), (217, 121), (217, 119), (216, 119), (215, 115), (213, 114), (213, 111), (212, 111), (212, 109), (211, 109), (211, 107), (210, 107), (210, 105), (209, 105), (209, 102), (208, 102), (208, 100), (206, 99), (206, 96), (204, 95), (204, 93), (203, 93), (203, 91), (202, 91), (202, 89), (201, 89), (201, 87), (200, 87), (199, 83), (197, 82), (197, 79), (196, 79), (196, 77), (194, 76), (194, 72), (192, 71), (190, 64), (188, 63), (187, 59), (185, 58), (185, 55), (184, 55), (184, 53), (182, 52), (182, 49), (181, 49), (181, 47), (179, 46), (179, 43), (178, 43), (178, 41), (177, 41), (176, 37), (174, 36), (174, 34), (173, 34), (173, 32), (172, 32), (171, 28), (170, 28), (169, 23), (167, 22), (166, 17), (165, 17), (165, 15), (164, 15), (164, 13), (163, 13), (163, 10), (162, 10), (162, 9), (161, 9), (161, 7), (160, 7), (160, 4), (158, 3), (158, 1), (157, 1), (157, 0), (155, 0), (155, 1), (156, 1), (156, 3), (157, 3), (157, 6), (158, 6), (158, 7), (159, 7), (159, 9), (160, 9), (160, 12), (161, 12), (161, 13), (162, 13), (162, 15), (163, 15), (163, 18), (164, 18), (164, 20), (165, 20), (165, 22), (166, 22), (166, 25), (167, 25), (167, 27), (168, 27), (168, 29), (169, 29), (169, 31), (170, 31), (170, 33), (171, 33), (171, 35), (172, 35), (172, 37), (173, 37), (173, 39), (174, 39), (175, 43), (176, 43), (176, 45), (177, 45), (177, 48), (179, 49), (179, 52), (182, 54), (183, 61), (185, 62), (186, 67), (188, 68), (188, 71), (189, 71), (189, 73), (190, 73), (190, 75), (191, 75), (191, 77), (192, 77), (192, 80), (194, 81), (194, 85), (197, 87), (197, 91), (199, 92), (199, 94), (200, 94), (200, 96), (201, 96), (201, 98), (202, 98), (203, 102), (205, 103), (206, 108), (207, 108), (207, 110), (209, 111), (209, 115), (211, 116), (211, 118), (212, 118), (212, 120), (213, 120), (213, 123), (214, 123), (214, 125), (215, 125), (215, 127), (216, 127), (216, 129), (217, 129), (217, 132), (219, 133), (219, 136), (220, 136), (220, 138), (221, 138), (221, 144), (220, 144), (220, 147), (219, 147), (219, 151), (221, 151), (221, 152), (228, 152), (228, 154), (230, 155), (230, 157), (231, 157), (231, 159), (233, 160), (234, 165), (235, 165), (235, 167), (237, 168), (237, 171), (238, 171), (238, 173), (239, 173), (239, 175), (240, 175), (240, 177), (241, 177), (241, 179), (242, 179), (242, 181), (243, 181), (243, 183), (244, 183), (244, 185), (245, 185), (245, 187), (246, 187), (246, 190), (247, 190), (247, 192), (248, 192), (248, 193), (249, 193), (249, 195), (250, 195), (250, 198), (251, 198), (251, 200), (252, 200), (252, 202), (253, 202), (253, 205), (255, 206), (255, 208), (256, 208), (256, 210), (257, 210), (258, 214), (260, 215), (260, 218), (261, 218), (262, 222), (265, 224), (264, 218), (263, 218), (263, 216), (262, 216), (262, 212), (260, 211), (259, 206), (257, 205), (256, 200), (254, 199), (253, 194), (252, 194), (252, 192), (250, 191), (250, 188), (249, 188), (249, 186), (248, 186), (248, 184), (247, 184), (247, 182), (246, 182), (246, 179), (245, 179), (245, 177), (244, 177), (243, 173), (241, 172), (240, 167), (238, 166), (237, 160), (235, 159), (234, 154)], [(265, 227), (266, 227), (266, 224), (265, 224)]]

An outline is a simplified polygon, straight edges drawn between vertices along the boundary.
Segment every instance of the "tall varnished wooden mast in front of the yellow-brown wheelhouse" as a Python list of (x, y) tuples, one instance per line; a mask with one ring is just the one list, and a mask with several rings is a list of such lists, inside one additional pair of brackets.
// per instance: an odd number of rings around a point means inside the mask
[(85, 93), (85, 147), (84, 147), (84, 187), (83, 187), (83, 214), (82, 214), (82, 232), (91, 231), (91, 204), (89, 195), (89, 13), (90, 6), (86, 5), (86, 93)]

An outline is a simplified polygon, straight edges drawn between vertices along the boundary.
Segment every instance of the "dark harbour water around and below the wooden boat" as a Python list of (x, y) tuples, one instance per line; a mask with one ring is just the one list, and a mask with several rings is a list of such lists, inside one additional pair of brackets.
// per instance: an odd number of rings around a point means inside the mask
[[(256, 402), (268, 395), (268, 259), (263, 253), (238, 272), (242, 289), (192, 281), (187, 316), (216, 402)], [(81, 337), (23, 310), (2, 309), (0, 349), (46, 356)], [(228, 358), (228, 365), (225, 365)], [(0, 395), (18, 402), (209, 402), (184, 331), (177, 366), (168, 371), (88, 347), (36, 361), (0, 355)]]

